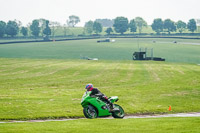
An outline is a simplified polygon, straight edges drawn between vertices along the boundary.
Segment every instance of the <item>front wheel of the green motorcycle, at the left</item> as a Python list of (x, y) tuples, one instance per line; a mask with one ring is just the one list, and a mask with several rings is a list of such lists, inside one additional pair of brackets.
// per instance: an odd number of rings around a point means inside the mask
[(97, 111), (91, 105), (83, 108), (83, 113), (84, 113), (84, 115), (85, 115), (86, 118), (89, 118), (89, 119), (97, 118)]

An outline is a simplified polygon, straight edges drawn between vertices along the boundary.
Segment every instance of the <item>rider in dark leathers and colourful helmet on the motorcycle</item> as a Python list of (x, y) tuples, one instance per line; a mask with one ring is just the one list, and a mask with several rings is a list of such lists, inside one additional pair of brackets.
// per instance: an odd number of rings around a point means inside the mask
[(87, 91), (92, 91), (92, 93), (90, 94), (91, 97), (99, 97), (102, 101), (105, 101), (110, 105), (111, 111), (114, 110), (113, 103), (111, 103), (110, 100), (97, 88), (93, 88), (92, 84), (87, 84), (85, 89), (87, 89)]

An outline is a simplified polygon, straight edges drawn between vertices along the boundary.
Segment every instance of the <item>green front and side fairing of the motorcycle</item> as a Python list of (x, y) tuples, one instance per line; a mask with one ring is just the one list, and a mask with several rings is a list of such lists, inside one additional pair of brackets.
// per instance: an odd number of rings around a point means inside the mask
[(108, 109), (101, 108), (102, 106), (106, 106), (106, 104), (97, 97), (90, 97), (91, 93), (92, 92), (89, 91), (89, 92), (85, 93), (85, 95), (83, 95), (83, 98), (81, 100), (82, 107), (84, 108), (84, 107), (87, 107), (88, 105), (92, 105), (96, 108), (96, 110), (98, 112), (98, 116), (111, 115), (111, 113), (108, 111)]

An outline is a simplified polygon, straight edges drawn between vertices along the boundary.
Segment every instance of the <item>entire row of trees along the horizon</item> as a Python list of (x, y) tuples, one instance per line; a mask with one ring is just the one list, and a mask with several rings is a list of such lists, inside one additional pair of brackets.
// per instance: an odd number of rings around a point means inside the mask
[[(36, 38), (41, 34), (44, 39), (48, 39), (50, 35), (52, 37), (55, 36), (58, 27), (62, 27), (64, 29), (64, 35), (66, 35), (67, 27), (75, 27), (75, 25), (79, 22), (80, 18), (75, 15), (69, 16), (66, 24), (62, 26), (59, 22), (52, 22), (45, 19), (35, 19), (27, 27), (21, 26), (21, 22), (17, 20), (8, 21), (7, 23), (0, 21), (0, 37), (4, 37), (5, 35), (14, 37), (19, 32), (26, 37), (28, 36), (28, 32), (30, 32), (30, 34)], [(103, 27), (107, 27), (105, 30), (107, 34), (111, 34), (114, 31), (116, 33), (124, 34), (128, 30), (132, 33), (139, 31), (139, 34), (141, 34), (143, 28), (147, 27), (147, 22), (141, 17), (136, 17), (130, 21), (126, 17), (116, 17), (113, 20), (90, 20), (85, 23), (83, 34), (91, 35), (95, 33), (98, 35), (103, 31)], [(193, 33), (195, 30), (197, 30), (197, 24), (195, 19), (190, 19), (188, 23), (185, 23), (181, 20), (174, 22), (171, 19), (162, 20), (161, 18), (157, 18), (154, 19), (151, 28), (156, 32), (156, 34), (160, 34), (162, 32), (167, 32), (170, 34), (171, 32), (176, 31), (183, 33), (186, 29)]]

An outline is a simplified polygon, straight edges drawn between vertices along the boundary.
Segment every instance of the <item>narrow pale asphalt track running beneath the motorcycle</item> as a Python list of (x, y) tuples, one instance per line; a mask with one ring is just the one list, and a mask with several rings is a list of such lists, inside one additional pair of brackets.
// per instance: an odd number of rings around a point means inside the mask
[[(125, 116), (124, 119), (136, 119), (136, 118), (162, 118), (162, 117), (200, 117), (200, 112), (193, 113), (177, 113), (177, 114), (163, 114), (163, 115), (129, 115)], [(23, 123), (23, 122), (48, 122), (48, 121), (70, 121), (86, 118), (74, 118), (74, 119), (47, 119), (47, 120), (28, 120), (28, 121), (0, 121), (2, 123)], [(114, 119), (113, 117), (98, 118), (98, 119)]]

